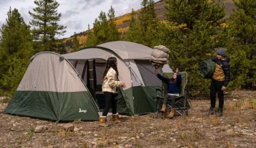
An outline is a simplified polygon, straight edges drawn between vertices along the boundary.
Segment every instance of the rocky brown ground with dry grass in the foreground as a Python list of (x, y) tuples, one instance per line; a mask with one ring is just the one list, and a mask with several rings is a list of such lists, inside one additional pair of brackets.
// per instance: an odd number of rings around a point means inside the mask
[[(55, 123), (0, 114), (0, 148), (253, 148), (256, 147), (256, 91), (225, 98), (224, 116), (208, 116), (209, 100), (191, 100), (186, 117), (123, 116), (112, 128), (98, 122)], [(218, 104), (218, 103), (217, 103)], [(0, 112), (7, 104), (0, 103)], [(70, 132), (72, 131), (72, 132)]]

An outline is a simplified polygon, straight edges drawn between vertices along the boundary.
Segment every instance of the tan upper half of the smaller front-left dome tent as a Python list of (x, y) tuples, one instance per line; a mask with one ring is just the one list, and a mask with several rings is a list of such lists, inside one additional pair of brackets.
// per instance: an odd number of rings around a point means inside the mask
[(72, 65), (63, 58), (48, 51), (35, 54), (17, 91), (87, 91)]

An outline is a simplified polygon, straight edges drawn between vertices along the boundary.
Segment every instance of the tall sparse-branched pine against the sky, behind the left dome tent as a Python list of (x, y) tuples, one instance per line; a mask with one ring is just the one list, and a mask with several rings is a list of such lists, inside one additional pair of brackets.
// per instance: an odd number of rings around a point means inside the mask
[(60, 44), (56, 35), (64, 35), (65, 26), (59, 25), (61, 13), (57, 12), (59, 3), (56, 0), (35, 0), (37, 7), (29, 14), (33, 17), (30, 25), (34, 26), (33, 34), (37, 40), (41, 41), (42, 48), (39, 51), (58, 52)]

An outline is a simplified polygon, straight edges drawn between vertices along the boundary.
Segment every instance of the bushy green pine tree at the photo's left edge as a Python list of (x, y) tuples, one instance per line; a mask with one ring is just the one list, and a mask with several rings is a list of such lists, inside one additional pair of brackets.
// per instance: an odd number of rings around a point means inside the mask
[(14, 93), (33, 55), (30, 33), (18, 10), (10, 8), (6, 23), (0, 28), (0, 91), (4, 90), (5, 95)]

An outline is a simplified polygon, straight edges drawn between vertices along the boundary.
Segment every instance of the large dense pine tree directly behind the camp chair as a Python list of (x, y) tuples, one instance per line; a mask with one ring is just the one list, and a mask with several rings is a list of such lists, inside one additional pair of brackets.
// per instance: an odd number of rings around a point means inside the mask
[(170, 66), (188, 72), (190, 92), (208, 95), (209, 82), (199, 78), (197, 66), (214, 57), (216, 36), (224, 23), (225, 5), (216, 0), (167, 0), (167, 27), (162, 43), (170, 48)]

